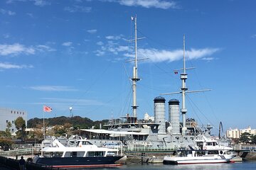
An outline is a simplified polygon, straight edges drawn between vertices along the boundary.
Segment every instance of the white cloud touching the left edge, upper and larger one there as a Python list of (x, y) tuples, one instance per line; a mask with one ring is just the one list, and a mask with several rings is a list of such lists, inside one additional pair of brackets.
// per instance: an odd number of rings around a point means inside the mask
[(33, 47), (25, 47), (18, 43), (14, 45), (0, 45), (0, 55), (18, 55), (21, 53), (33, 55), (35, 54), (35, 49)]

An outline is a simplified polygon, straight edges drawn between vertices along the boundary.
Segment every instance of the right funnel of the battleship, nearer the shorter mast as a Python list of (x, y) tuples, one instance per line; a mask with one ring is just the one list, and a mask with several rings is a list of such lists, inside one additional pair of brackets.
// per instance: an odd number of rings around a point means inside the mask
[(169, 123), (172, 126), (173, 135), (180, 135), (180, 120), (179, 120), (179, 101), (171, 99), (169, 102)]

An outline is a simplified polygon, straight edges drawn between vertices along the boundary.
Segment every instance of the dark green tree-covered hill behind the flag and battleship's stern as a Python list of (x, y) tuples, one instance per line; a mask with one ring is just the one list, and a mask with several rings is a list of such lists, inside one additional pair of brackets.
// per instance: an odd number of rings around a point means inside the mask
[[(60, 116), (57, 118), (45, 118), (45, 123), (47, 126), (54, 126), (54, 125), (64, 125), (65, 123), (70, 123), (73, 125), (74, 128), (80, 129), (88, 129), (94, 126), (96, 129), (100, 128), (100, 123), (105, 125), (109, 120), (97, 120), (93, 121), (89, 118), (81, 118), (80, 116), (74, 116), (73, 118)], [(43, 125), (43, 118), (32, 118), (28, 120), (28, 128), (36, 128), (38, 125)]]

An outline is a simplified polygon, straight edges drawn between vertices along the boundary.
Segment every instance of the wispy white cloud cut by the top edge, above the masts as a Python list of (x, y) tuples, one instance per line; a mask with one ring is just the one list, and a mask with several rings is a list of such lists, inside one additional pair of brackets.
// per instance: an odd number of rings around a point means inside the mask
[(144, 8), (178, 8), (174, 1), (162, 0), (102, 0), (107, 2), (116, 2), (124, 6), (142, 6)]

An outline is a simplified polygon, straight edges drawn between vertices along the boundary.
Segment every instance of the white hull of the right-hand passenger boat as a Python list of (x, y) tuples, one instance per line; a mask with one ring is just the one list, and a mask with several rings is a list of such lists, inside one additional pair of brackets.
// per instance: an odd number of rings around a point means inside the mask
[(220, 164), (228, 163), (235, 155), (205, 155), (202, 157), (164, 157), (164, 164)]

